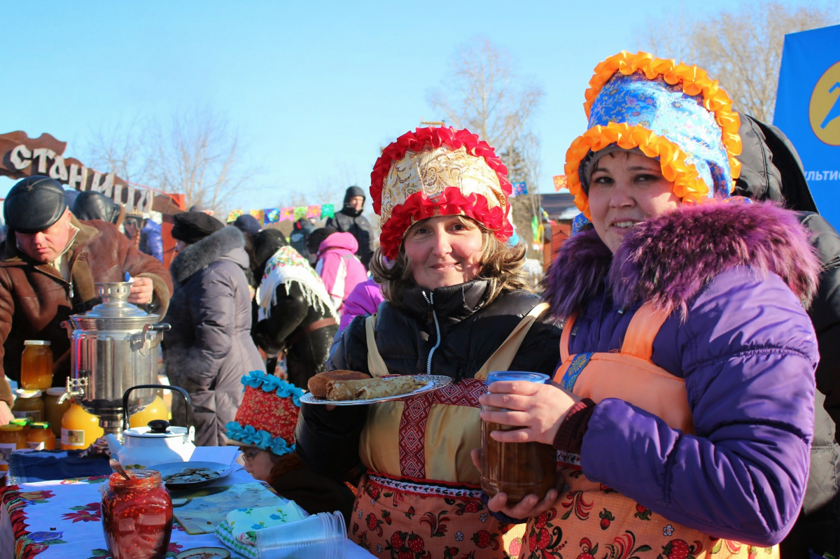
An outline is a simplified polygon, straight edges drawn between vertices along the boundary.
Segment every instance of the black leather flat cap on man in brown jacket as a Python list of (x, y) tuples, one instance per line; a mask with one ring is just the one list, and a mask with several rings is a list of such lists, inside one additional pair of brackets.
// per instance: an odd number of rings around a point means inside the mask
[(18, 181), (8, 191), (3, 218), (9, 229), (31, 234), (57, 222), (66, 209), (65, 192), (59, 181), (35, 175)]

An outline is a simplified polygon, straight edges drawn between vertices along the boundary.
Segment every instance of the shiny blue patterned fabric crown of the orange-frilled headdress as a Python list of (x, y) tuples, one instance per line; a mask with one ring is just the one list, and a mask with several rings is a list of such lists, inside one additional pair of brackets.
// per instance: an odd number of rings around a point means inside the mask
[(703, 107), (702, 93), (686, 95), (679, 83), (670, 86), (662, 76), (648, 80), (641, 71), (630, 76), (616, 72), (593, 102), (588, 128), (607, 123), (641, 126), (669, 139), (709, 185), (710, 198), (729, 194), (732, 173), (721, 127)]

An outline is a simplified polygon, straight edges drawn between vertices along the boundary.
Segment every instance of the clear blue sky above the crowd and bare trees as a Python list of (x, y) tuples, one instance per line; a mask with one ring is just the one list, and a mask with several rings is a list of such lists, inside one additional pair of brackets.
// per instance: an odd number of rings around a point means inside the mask
[[(97, 128), (211, 107), (265, 169), (239, 206), (276, 206), (290, 192), (345, 180), (366, 189), (381, 146), (421, 117), (441, 118), (427, 92), (445, 87), (459, 45), (481, 35), (543, 86), (534, 128), (548, 192), (585, 127), (594, 66), (636, 50), (638, 31), (664, 10), (703, 15), (731, 4), (8, 2), (0, 133), (48, 132), (81, 159)], [(0, 196), (12, 184), (0, 178)]]

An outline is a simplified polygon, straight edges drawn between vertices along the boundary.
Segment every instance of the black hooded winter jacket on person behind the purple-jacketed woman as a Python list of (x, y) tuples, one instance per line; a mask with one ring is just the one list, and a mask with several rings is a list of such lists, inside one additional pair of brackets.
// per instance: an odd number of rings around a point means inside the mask
[(820, 350), (816, 368), (811, 471), (799, 519), (780, 546), (782, 559), (840, 553), (840, 235), (821, 217), (799, 155), (779, 128), (742, 115), (743, 153), (734, 194), (773, 200), (799, 214), (822, 262), (820, 285), (808, 310)]

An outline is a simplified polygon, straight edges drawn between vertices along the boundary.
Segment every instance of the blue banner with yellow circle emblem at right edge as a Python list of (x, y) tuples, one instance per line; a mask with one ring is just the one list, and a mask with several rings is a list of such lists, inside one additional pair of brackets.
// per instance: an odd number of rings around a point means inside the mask
[(840, 228), (840, 25), (785, 35), (773, 123), (799, 152), (820, 213)]

